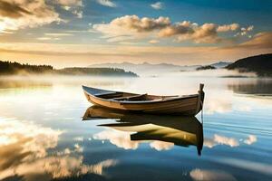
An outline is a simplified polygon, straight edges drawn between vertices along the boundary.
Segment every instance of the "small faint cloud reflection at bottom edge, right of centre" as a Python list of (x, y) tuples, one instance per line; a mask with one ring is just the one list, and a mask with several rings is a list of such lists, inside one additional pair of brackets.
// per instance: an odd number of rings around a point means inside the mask
[(237, 180), (234, 176), (228, 174), (227, 172), (220, 170), (205, 170), (205, 169), (193, 169), (189, 172), (189, 176), (196, 181), (209, 180), (209, 181), (235, 181)]

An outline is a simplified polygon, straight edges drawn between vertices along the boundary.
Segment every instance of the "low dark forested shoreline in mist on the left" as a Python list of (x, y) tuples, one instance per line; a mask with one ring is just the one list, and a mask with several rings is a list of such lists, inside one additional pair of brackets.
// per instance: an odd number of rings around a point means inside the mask
[(27, 75), (27, 74), (62, 74), (62, 75), (93, 75), (93, 76), (130, 76), (138, 75), (131, 71), (114, 68), (84, 68), (72, 67), (64, 69), (53, 69), (51, 65), (29, 65), (18, 62), (1, 62), (0, 75)]

